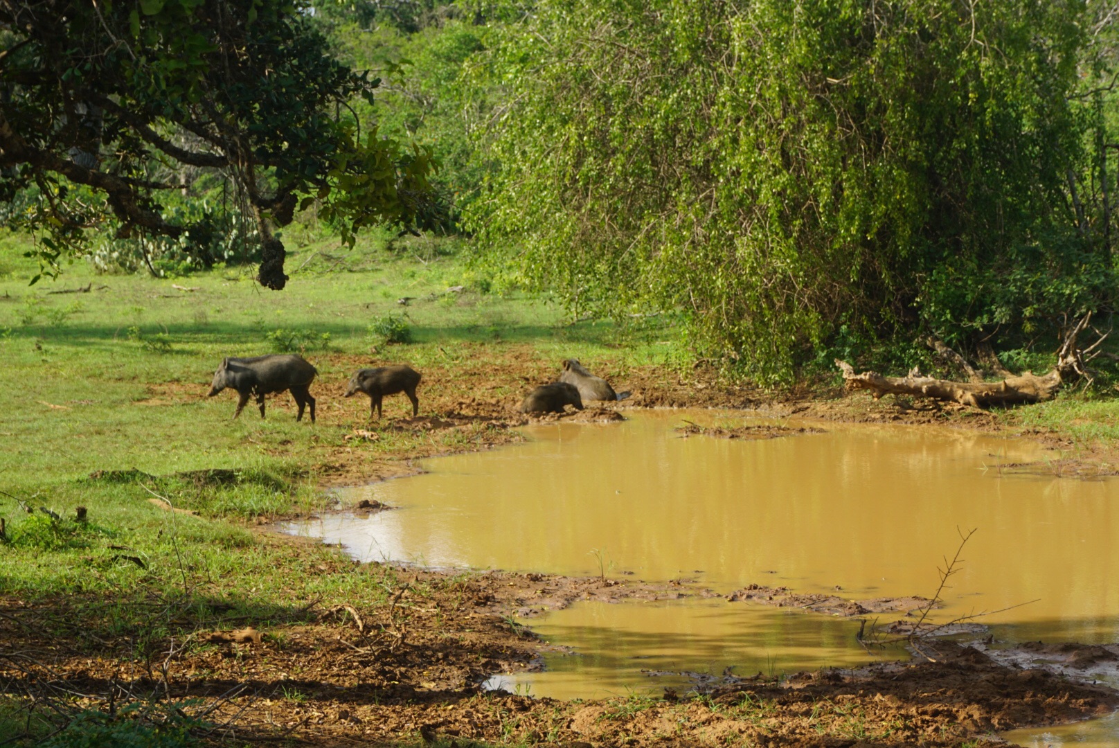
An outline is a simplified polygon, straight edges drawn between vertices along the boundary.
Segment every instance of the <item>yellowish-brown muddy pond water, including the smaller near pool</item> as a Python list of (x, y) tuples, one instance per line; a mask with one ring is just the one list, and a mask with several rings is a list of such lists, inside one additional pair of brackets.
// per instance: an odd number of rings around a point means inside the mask
[[(675, 428), (687, 421), (764, 421), (721, 411), (627, 418), (529, 427), (527, 443), (429, 460), (425, 475), (345, 497), (398, 509), (285, 531), (365, 560), (685, 578), (722, 593), (752, 582), (838, 587), (861, 599), (931, 596), (959, 532), (975, 527), (938, 620), (1021, 606), (981, 621), (1014, 642), (1119, 639), (1119, 483), (1044, 475), (1054, 454), (1033, 442), (835, 423), (777, 439), (681, 438)], [(1024, 462), (1042, 468), (1005, 467)], [(746, 676), (869, 658), (856, 620), (722, 599), (580, 602), (527, 623), (558, 648), (544, 672), (502, 681), (533, 695), (659, 691), (727, 667)]]

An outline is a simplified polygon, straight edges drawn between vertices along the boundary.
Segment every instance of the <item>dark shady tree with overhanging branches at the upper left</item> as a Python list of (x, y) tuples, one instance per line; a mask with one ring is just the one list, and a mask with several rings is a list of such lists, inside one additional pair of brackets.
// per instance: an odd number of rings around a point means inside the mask
[[(185, 237), (172, 190), (215, 171), (241, 191), (263, 245), (258, 280), (282, 289), (274, 230), (297, 206), (346, 239), (414, 228), (432, 162), (349, 104), (379, 81), (335, 60), (299, 0), (0, 0), (0, 205), (43, 234), (46, 271), (88, 230)], [(34, 199), (17, 199), (34, 195)]]

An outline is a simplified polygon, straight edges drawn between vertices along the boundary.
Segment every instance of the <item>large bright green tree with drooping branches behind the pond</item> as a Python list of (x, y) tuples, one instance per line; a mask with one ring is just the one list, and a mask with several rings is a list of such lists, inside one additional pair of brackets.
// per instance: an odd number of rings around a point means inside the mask
[(540, 0), (489, 53), (474, 225), (576, 309), (677, 309), (762, 377), (1023, 339), (1113, 296), (1096, 28), (1078, 0)]

